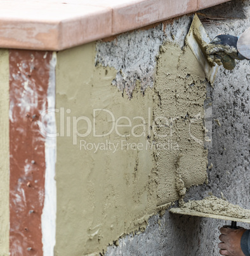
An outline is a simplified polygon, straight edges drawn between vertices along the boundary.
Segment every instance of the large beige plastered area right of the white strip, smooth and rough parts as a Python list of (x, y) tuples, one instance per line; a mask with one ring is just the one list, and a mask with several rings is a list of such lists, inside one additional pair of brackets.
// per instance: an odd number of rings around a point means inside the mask
[[(64, 108), (65, 122), (66, 117), (71, 120), (71, 126), (63, 125), (62, 136), (62, 113), (56, 113), (61, 136), (57, 138), (55, 255), (60, 256), (105, 251), (124, 234), (143, 231), (151, 215), (183, 197), (185, 187), (206, 180), (206, 84), (190, 49), (182, 52), (177, 46), (162, 46), (154, 88), (143, 96), (138, 82), (131, 100), (111, 85), (117, 71), (95, 66), (95, 55), (95, 43), (89, 43), (57, 56), (56, 108)], [(77, 136), (73, 145), (73, 118), (88, 117), (93, 125), (93, 109), (109, 110), (115, 120), (130, 118), (132, 127), (117, 128), (126, 137), (113, 131), (96, 138), (92, 130), (86, 137)], [(142, 117), (145, 124), (135, 117)], [(128, 120), (123, 118), (119, 124)], [(81, 120), (77, 131), (84, 134), (88, 126)], [(99, 111), (96, 134), (111, 127), (110, 114)], [(105, 148), (109, 142), (118, 145), (116, 151)], [(89, 150), (81, 143), (89, 143)], [(95, 153), (94, 143), (103, 143)], [(138, 143), (143, 146), (138, 148)]]

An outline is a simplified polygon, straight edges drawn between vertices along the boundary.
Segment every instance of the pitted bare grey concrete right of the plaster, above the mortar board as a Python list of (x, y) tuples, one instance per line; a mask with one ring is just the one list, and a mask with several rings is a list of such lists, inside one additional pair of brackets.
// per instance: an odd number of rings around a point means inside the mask
[[(224, 4), (223, 4), (224, 5)], [(206, 10), (207, 15), (239, 17), (210, 20), (207, 33), (213, 38), (222, 33), (239, 36), (250, 26), (250, 1), (232, 1), (225, 8)], [(190, 190), (188, 199), (202, 199), (207, 192), (225, 197), (243, 208), (249, 205), (249, 61), (237, 62), (233, 71), (220, 68), (214, 88), (207, 88), (213, 106), (213, 140), (207, 169), (209, 183)]]

